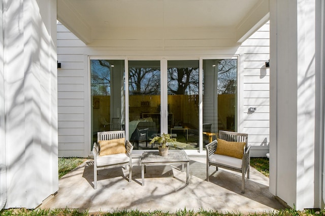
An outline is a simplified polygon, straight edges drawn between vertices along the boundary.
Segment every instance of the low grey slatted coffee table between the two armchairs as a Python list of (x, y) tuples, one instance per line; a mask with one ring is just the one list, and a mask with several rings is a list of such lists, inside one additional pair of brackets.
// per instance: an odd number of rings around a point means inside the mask
[(169, 150), (167, 156), (160, 156), (158, 151), (146, 151), (141, 156), (141, 177), (142, 186), (144, 186), (144, 174), (146, 165), (166, 165), (166, 164), (182, 164), (182, 171), (184, 171), (184, 164), (186, 164), (186, 185), (188, 185), (189, 178), (189, 157), (184, 150)]

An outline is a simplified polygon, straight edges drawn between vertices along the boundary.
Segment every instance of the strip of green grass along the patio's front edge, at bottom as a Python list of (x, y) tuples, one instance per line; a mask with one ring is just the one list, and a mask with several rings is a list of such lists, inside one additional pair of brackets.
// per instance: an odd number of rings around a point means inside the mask
[(15, 208), (15, 209), (6, 209), (0, 211), (0, 216), (9, 216), (9, 215), (19, 215), (19, 216), (51, 216), (51, 215), (67, 215), (67, 216), (118, 216), (118, 215), (127, 215), (127, 216), (219, 216), (219, 215), (226, 215), (226, 216), (311, 216), (311, 215), (325, 215), (325, 209), (321, 210), (314, 210), (314, 209), (307, 209), (304, 211), (297, 211), (294, 209), (283, 209), (279, 211), (273, 212), (264, 212), (264, 213), (249, 213), (243, 214), (241, 212), (219, 212), (213, 210), (204, 210), (200, 209), (199, 211), (194, 210), (178, 210), (175, 213), (164, 212), (161, 210), (153, 210), (153, 211), (139, 211), (135, 210), (115, 210), (113, 212), (88, 212), (87, 210), (78, 210), (78, 209), (52, 209), (52, 210), (44, 210), (44, 209), (35, 209), (35, 210), (28, 210), (25, 208)]

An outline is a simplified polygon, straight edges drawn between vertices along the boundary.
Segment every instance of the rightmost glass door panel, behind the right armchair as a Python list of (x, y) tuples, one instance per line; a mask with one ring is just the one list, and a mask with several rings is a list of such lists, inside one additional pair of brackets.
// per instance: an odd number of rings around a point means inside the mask
[(237, 59), (203, 60), (203, 147), (237, 128)]

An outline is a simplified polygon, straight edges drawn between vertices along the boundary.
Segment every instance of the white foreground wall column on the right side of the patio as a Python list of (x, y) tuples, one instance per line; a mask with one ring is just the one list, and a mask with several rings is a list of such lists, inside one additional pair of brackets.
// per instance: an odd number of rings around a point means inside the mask
[(321, 4), (270, 2), (270, 191), (297, 209), (324, 206)]

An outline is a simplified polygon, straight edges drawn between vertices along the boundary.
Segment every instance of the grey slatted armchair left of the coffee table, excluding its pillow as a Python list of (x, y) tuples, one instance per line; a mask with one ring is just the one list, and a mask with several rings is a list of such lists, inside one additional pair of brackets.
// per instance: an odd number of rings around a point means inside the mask
[[(114, 140), (114, 139), (125, 139), (125, 132), (124, 131), (109, 131), (109, 132), (98, 132), (97, 133), (97, 141), (102, 140)], [(129, 167), (129, 174), (128, 174), (128, 181), (132, 181), (132, 144), (126, 140), (125, 141), (125, 153), (117, 153), (117, 154), (110, 154), (100, 156), (100, 145), (99, 143), (94, 143), (92, 148), (92, 154), (94, 157), (94, 165), (93, 165), (93, 186), (94, 189), (97, 188), (97, 172), (98, 170), (105, 169), (105, 168), (113, 168), (113, 167), (120, 167), (126, 169)]]

